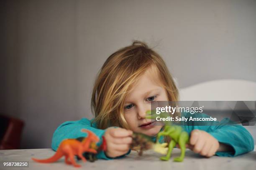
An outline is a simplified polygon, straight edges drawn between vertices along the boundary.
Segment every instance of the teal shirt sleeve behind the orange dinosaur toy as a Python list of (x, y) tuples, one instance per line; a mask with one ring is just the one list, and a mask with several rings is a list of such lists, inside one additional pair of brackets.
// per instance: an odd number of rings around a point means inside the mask
[[(51, 148), (56, 151), (59, 148), (59, 145), (61, 143), (62, 140), (64, 139), (76, 139), (79, 137), (86, 137), (87, 134), (81, 132), (81, 129), (87, 129), (87, 130), (91, 130), (93, 133), (95, 133), (95, 135), (97, 135), (100, 138), (100, 142), (97, 143), (98, 146), (101, 145), (102, 143), (102, 136), (105, 133), (105, 130), (101, 130), (101, 129), (97, 129), (92, 127), (91, 125), (91, 120), (88, 120), (86, 118), (82, 118), (81, 120), (77, 120), (77, 121), (67, 121), (62, 123), (54, 132), (53, 134), (53, 138), (52, 138), (52, 142), (51, 142)], [(128, 155), (130, 153), (130, 151), (128, 153), (126, 153), (125, 155)], [(118, 158), (122, 158), (122, 155)], [(96, 158), (98, 159), (105, 159), (105, 160), (110, 160), (113, 158), (109, 158), (105, 155), (104, 151), (100, 151), (97, 155)]]

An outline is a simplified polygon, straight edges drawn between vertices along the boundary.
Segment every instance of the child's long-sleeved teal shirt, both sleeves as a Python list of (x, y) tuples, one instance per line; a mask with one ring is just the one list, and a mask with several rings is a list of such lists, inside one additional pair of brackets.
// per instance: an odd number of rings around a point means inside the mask
[[(182, 113), (182, 116), (189, 117), (209, 117), (205, 114), (194, 114), (191, 115), (190, 113)], [(92, 119), (93, 120), (93, 119)], [(88, 120), (86, 118), (82, 118), (81, 120), (77, 121), (67, 121), (62, 123), (54, 132), (51, 148), (53, 150), (57, 150), (59, 147), (59, 144), (64, 139), (75, 139), (78, 137), (86, 137), (86, 133), (82, 133), (81, 129), (85, 128), (88, 130), (91, 130), (95, 135), (97, 135), (100, 139), (102, 139), (102, 135), (104, 135), (105, 130), (97, 129), (96, 123), (93, 123), (91, 125), (92, 120)], [(216, 138), (220, 143), (224, 143), (226, 145), (230, 145), (233, 148), (233, 152), (217, 152), (215, 155), (218, 156), (237, 156), (241, 155), (243, 153), (248, 153), (252, 150), (254, 150), (254, 140), (251, 134), (243, 128), (241, 125), (227, 125), (227, 123), (230, 120), (228, 118), (225, 118), (218, 122), (218, 125), (207, 125), (207, 126), (197, 126), (197, 125), (182, 125), (183, 129), (187, 131), (187, 133), (191, 133), (192, 130), (198, 129), (198, 130), (204, 130), (210, 135), (212, 135), (214, 138)], [(155, 141), (156, 137), (152, 137), (152, 139)], [(163, 142), (163, 138), (160, 138), (160, 143)], [(102, 140), (97, 145), (100, 145), (102, 143)], [(128, 155), (131, 152), (129, 150), (128, 153), (125, 155)], [(124, 155), (118, 157), (122, 158)], [(105, 159), (109, 160), (111, 158), (108, 158), (104, 151), (100, 151), (100, 153), (96, 156), (98, 159)]]

